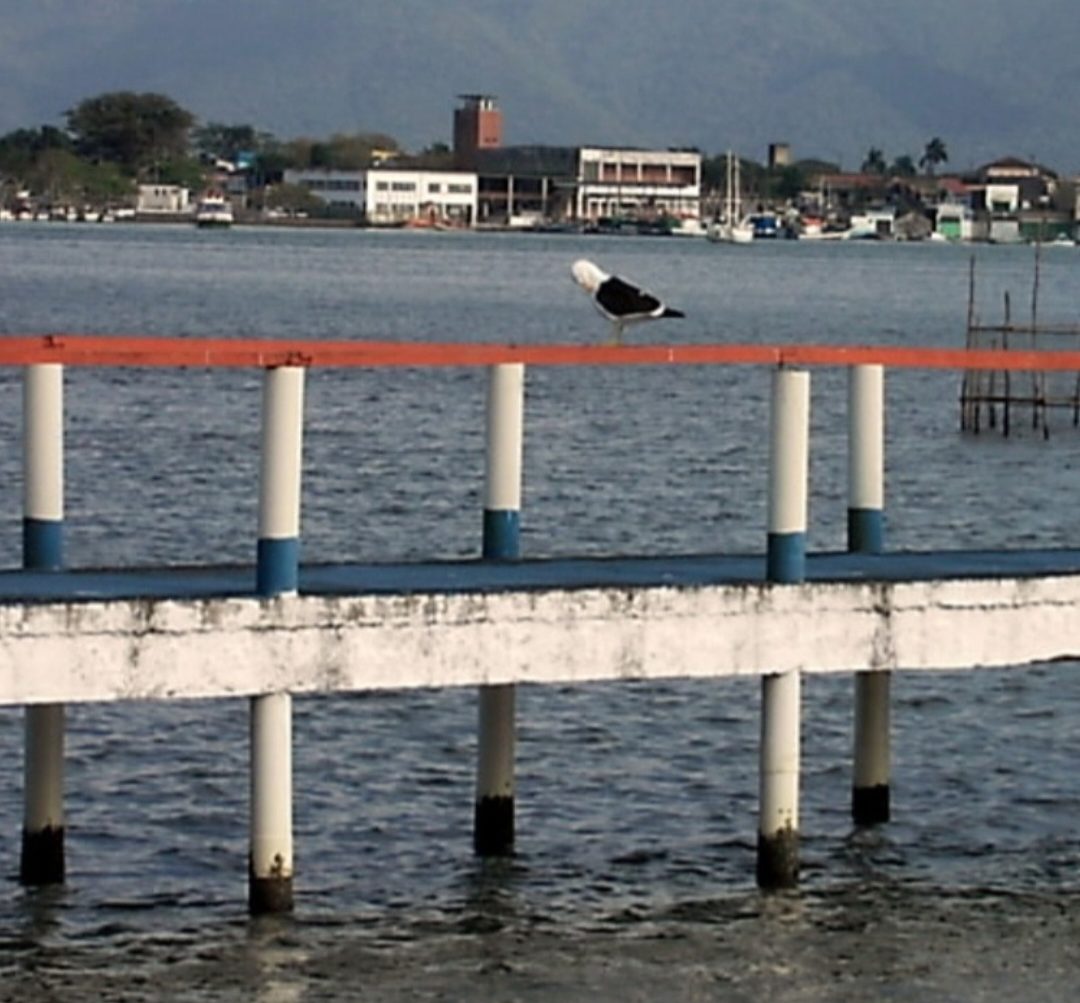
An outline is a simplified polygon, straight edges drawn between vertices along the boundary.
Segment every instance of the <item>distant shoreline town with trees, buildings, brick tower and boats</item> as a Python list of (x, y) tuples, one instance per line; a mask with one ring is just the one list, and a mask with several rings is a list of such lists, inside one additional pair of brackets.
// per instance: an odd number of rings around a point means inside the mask
[(947, 170), (942, 137), (858, 171), (783, 141), (757, 161), (698, 149), (503, 144), (495, 95), (459, 95), (453, 144), (408, 152), (389, 135), (279, 140), (199, 124), (159, 94), (113, 92), (65, 127), (0, 137), (0, 219), (189, 221), (214, 195), (218, 222), (573, 230), (754, 239), (1072, 242), (1078, 179), (1003, 151)]

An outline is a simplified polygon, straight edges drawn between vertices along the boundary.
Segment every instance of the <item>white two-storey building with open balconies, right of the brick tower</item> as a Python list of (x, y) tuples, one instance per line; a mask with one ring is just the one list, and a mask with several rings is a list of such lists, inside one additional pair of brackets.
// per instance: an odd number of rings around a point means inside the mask
[(686, 150), (582, 147), (577, 218), (701, 215), (701, 154)]

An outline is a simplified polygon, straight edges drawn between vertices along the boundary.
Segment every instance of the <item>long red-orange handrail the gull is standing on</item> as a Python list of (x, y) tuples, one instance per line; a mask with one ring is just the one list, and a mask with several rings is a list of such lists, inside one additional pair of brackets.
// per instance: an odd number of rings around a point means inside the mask
[(386, 366), (882, 365), (1080, 371), (1080, 352), (836, 344), (484, 344), (111, 335), (0, 336), (0, 365), (330, 368)]

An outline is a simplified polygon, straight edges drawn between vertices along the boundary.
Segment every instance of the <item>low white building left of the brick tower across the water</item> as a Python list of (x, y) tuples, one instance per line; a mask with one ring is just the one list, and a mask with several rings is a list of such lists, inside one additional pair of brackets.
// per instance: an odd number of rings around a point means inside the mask
[(307, 188), (327, 205), (355, 209), (372, 226), (471, 227), (476, 220), (476, 175), (467, 171), (311, 167), (286, 171), (284, 180)]

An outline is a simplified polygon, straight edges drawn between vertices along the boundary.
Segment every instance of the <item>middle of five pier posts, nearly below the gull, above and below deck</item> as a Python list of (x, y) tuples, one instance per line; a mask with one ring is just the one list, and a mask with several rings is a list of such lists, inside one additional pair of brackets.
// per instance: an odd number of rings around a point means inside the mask
[[(491, 366), (487, 385), (484, 477), (485, 560), (521, 557), (525, 367)], [(480, 690), (473, 846), (481, 856), (514, 849), (514, 703), (512, 683)]]

